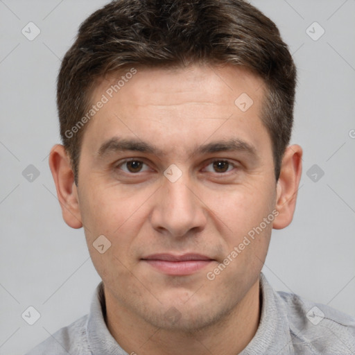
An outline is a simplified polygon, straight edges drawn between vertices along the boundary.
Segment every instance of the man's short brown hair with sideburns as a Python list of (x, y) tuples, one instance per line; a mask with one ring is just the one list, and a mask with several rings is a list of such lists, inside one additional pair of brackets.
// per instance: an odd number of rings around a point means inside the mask
[(262, 121), (272, 141), (275, 178), (291, 139), (296, 69), (277, 26), (243, 0), (116, 0), (90, 15), (58, 75), (60, 135), (76, 183), (85, 115), (99, 78), (125, 67), (191, 62), (248, 67), (266, 83)]

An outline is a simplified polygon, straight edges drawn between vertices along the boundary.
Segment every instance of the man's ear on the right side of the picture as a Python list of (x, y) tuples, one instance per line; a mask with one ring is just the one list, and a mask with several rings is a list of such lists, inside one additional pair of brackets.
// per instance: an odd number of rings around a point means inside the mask
[(297, 191), (302, 175), (302, 148), (296, 144), (288, 146), (282, 159), (275, 208), (279, 215), (272, 225), (276, 230), (287, 227), (295, 212)]

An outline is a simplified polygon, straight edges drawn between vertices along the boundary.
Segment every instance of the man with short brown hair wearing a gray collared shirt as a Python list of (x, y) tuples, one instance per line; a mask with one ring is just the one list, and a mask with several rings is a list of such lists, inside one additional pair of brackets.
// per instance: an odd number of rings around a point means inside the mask
[(241, 0), (119, 0), (58, 76), (49, 163), (103, 282), (32, 354), (354, 354), (353, 318), (261, 274), (291, 223), (295, 65)]

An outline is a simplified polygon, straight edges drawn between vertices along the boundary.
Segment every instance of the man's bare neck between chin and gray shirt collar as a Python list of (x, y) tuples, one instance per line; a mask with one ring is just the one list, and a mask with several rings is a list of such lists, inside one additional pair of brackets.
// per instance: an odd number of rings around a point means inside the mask
[(193, 332), (154, 327), (105, 291), (107, 328), (128, 354), (236, 355), (252, 340), (260, 320), (259, 279), (232, 312)]

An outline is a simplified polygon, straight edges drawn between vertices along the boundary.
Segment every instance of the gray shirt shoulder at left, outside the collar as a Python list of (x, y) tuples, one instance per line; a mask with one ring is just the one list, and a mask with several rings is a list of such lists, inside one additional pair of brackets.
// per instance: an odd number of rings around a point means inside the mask
[(84, 315), (69, 326), (59, 329), (26, 355), (91, 355), (87, 345), (87, 317)]

